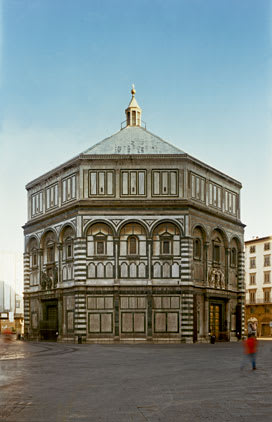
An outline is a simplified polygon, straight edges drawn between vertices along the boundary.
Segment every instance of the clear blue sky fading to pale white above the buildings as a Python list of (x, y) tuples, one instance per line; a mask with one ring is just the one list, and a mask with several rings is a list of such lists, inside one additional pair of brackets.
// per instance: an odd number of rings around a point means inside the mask
[[(124, 120), (240, 180), (245, 237), (271, 229), (271, 1), (0, 0), (0, 251), (24, 186)], [(1, 274), (0, 274), (1, 275)]]

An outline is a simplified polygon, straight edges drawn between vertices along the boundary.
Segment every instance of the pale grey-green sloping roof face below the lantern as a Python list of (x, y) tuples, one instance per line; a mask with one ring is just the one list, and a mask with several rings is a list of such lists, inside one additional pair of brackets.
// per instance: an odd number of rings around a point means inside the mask
[(127, 126), (88, 148), (83, 154), (185, 154), (185, 152), (142, 127)]

